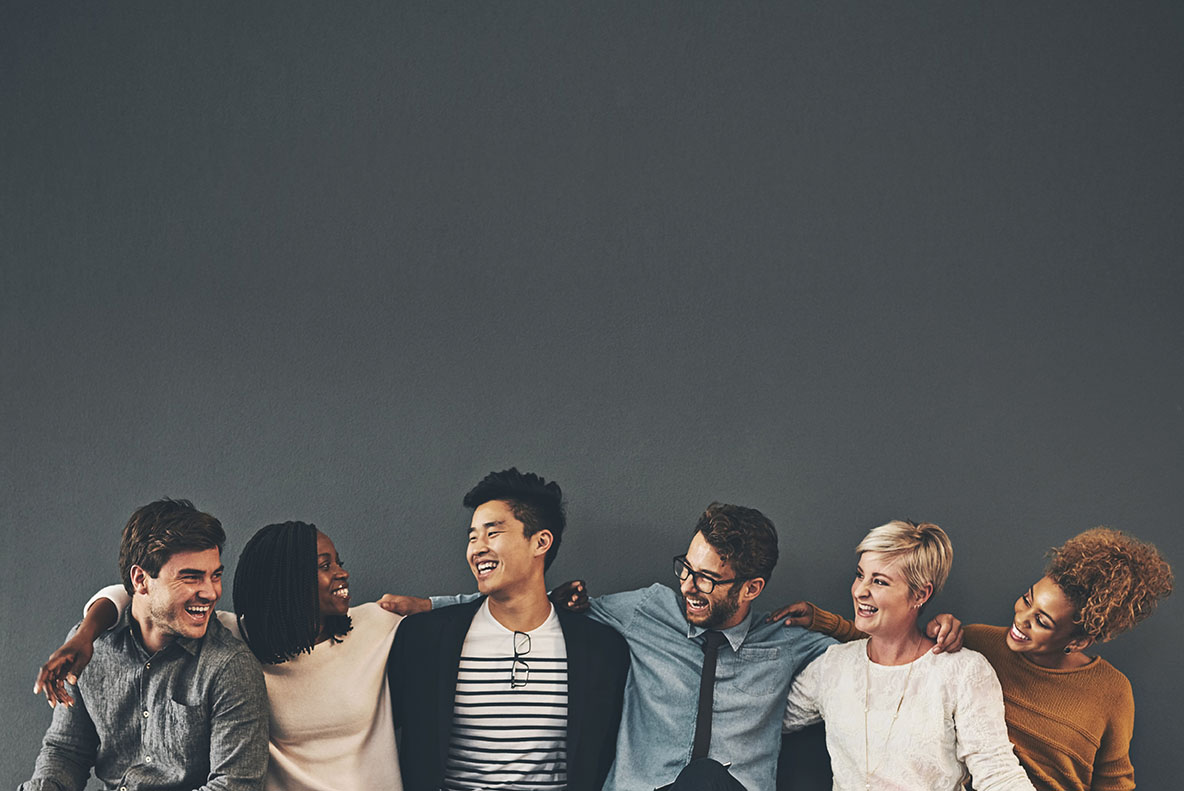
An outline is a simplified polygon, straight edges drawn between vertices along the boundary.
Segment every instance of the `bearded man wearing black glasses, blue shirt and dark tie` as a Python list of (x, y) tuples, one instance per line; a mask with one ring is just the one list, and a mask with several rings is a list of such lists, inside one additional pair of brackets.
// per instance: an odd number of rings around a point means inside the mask
[[(776, 786), (790, 682), (835, 642), (753, 613), (777, 559), (777, 529), (764, 514), (712, 503), (674, 558), (677, 590), (656, 583), (591, 600), (588, 615), (625, 637), (631, 661), (606, 790)], [(399, 605), (391, 609), (429, 603)]]

